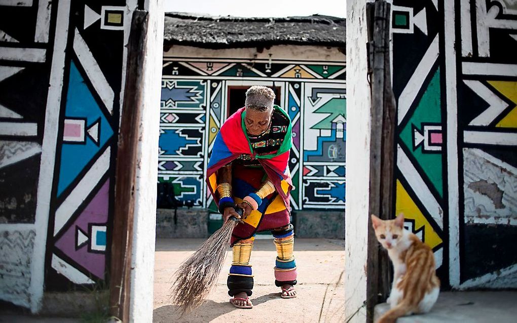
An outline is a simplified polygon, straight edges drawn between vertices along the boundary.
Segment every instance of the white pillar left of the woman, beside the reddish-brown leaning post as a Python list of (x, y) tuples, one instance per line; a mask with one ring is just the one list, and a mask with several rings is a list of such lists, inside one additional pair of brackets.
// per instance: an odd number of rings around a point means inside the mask
[(149, 22), (144, 58), (144, 88), (136, 168), (133, 248), (131, 255), (131, 322), (153, 320), (153, 285), (156, 233), (156, 183), (163, 60), (163, 7), (161, 0), (147, 0)]

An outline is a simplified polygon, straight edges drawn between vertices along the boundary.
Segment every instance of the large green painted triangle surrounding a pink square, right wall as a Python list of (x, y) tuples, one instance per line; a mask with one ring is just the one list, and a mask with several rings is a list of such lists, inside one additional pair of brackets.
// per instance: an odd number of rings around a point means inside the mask
[(420, 165), (425, 175), (429, 178), (440, 197), (443, 197), (444, 183), (442, 177), (442, 153), (423, 152), (422, 145), (413, 150), (413, 129), (422, 129), (422, 122), (433, 122), (442, 124), (441, 112), (441, 89), (440, 89), (440, 69), (438, 68), (431, 79), (425, 93), (418, 103), (413, 115), (407, 120), (405, 125), (401, 125), (400, 139), (406, 148), (411, 152), (412, 157)]

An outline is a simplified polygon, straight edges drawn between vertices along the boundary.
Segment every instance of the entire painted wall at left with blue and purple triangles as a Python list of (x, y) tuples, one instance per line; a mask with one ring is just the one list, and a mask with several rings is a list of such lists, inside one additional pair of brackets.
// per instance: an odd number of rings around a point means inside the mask
[[(134, 1), (0, 4), (0, 299), (107, 278)], [(106, 284), (103, 283), (105, 286)]]

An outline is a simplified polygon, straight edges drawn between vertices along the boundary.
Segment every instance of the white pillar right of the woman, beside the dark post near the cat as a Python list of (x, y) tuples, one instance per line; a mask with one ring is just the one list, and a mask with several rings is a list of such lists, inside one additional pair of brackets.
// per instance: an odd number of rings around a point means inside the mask
[(366, 321), (370, 86), (366, 0), (346, 1), (345, 321)]

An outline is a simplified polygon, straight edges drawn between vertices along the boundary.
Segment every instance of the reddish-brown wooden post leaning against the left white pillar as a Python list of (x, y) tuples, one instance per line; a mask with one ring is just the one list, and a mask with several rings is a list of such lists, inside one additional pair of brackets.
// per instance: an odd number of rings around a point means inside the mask
[(129, 321), (131, 247), (133, 242), (136, 153), (142, 109), (143, 61), (148, 12), (133, 12), (128, 41), (126, 89), (121, 112), (115, 175), (115, 213), (111, 243), (111, 314)]

